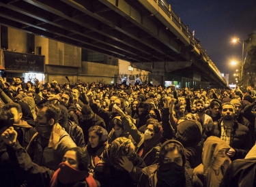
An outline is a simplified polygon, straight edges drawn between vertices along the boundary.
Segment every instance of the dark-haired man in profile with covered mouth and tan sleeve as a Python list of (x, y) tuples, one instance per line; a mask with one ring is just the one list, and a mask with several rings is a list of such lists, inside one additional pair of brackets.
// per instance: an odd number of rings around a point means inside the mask
[(58, 123), (60, 109), (52, 103), (39, 106), (35, 129), (38, 131), (27, 146), (33, 163), (57, 170), (59, 163), (70, 148), (76, 147), (68, 133)]

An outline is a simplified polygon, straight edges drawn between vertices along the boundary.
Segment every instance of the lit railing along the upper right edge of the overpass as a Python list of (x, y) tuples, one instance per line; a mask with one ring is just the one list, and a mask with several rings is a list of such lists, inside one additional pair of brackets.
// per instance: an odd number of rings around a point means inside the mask
[(221, 71), (219, 71), (216, 65), (214, 65), (214, 63), (210, 60), (210, 57), (208, 56), (208, 54), (206, 54), (205, 49), (201, 47), (197, 39), (195, 39), (193, 33), (190, 33), (190, 31), (188, 30), (188, 25), (184, 24), (180, 20), (180, 17), (177, 16), (177, 14), (175, 14), (173, 10), (171, 10), (171, 5), (167, 3), (167, 1), (165, 0), (154, 0), (154, 1), (158, 3), (158, 6), (165, 12), (165, 14), (167, 14), (167, 16), (169, 16), (169, 18), (171, 18), (171, 20), (177, 25), (177, 27), (180, 28), (182, 33), (184, 33), (184, 35), (186, 35), (186, 37), (190, 39), (190, 44), (193, 44), (193, 46), (199, 50), (200, 52), (199, 55), (201, 55), (202, 58), (206, 59), (210, 67), (212, 67), (212, 69), (216, 72), (219, 78), (225, 81), (225, 79), (221, 75)]

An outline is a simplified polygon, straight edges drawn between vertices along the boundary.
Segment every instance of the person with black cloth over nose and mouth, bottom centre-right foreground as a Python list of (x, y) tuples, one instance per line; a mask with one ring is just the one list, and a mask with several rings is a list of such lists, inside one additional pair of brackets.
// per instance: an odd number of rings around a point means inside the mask
[(138, 187), (193, 186), (193, 174), (185, 169), (185, 163), (182, 143), (173, 139), (165, 141), (160, 148), (159, 163), (142, 169)]

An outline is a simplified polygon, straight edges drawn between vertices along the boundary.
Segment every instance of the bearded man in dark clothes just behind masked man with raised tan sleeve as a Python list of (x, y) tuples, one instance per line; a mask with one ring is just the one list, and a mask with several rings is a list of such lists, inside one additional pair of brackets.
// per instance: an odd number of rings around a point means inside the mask
[(79, 120), (76, 116), (76, 105), (74, 105), (72, 95), (69, 91), (63, 92), (61, 95), (60, 104), (68, 109), (68, 119), (76, 124), (79, 124)]

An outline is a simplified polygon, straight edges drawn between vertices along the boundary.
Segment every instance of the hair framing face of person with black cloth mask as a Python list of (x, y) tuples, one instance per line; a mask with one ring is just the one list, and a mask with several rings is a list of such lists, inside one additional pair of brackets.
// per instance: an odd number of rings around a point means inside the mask
[(159, 154), (160, 163), (163, 163), (163, 161), (165, 160), (165, 156), (168, 152), (173, 152), (174, 150), (177, 150), (177, 152), (182, 155), (183, 165), (185, 165), (184, 160), (186, 159), (184, 159), (184, 149), (182, 148), (181, 143), (176, 142), (167, 143), (165, 146), (162, 147)]

